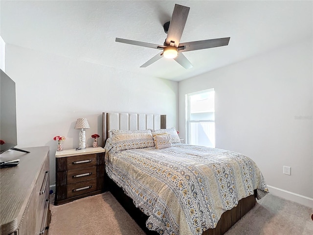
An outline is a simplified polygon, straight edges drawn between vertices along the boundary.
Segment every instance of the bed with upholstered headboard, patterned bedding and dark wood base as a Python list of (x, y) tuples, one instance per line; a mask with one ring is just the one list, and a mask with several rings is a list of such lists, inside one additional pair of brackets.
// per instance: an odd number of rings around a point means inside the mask
[(180, 143), (164, 115), (103, 113), (103, 140), (106, 185), (149, 235), (223, 235), (268, 193), (251, 159)]

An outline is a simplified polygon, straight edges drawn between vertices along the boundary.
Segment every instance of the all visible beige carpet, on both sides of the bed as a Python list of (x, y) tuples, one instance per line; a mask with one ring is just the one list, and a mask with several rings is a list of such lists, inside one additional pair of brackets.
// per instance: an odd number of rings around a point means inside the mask
[[(49, 235), (145, 235), (110, 192), (51, 204), (51, 213)], [(312, 213), (268, 194), (225, 235), (313, 235)]]

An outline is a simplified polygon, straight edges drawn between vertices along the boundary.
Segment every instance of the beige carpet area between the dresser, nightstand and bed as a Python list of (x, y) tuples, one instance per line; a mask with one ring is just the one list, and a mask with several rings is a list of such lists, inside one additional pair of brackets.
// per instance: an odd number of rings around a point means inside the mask
[(110, 192), (50, 210), (49, 235), (145, 235)]

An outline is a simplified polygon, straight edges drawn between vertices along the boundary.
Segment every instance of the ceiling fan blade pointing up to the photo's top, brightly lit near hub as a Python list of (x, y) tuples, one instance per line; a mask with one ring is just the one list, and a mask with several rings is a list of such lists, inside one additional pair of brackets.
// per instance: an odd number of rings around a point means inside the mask
[(175, 47), (178, 47), (179, 41), (184, 30), (190, 7), (175, 4), (172, 19), (165, 40), (166, 45), (173, 41)]

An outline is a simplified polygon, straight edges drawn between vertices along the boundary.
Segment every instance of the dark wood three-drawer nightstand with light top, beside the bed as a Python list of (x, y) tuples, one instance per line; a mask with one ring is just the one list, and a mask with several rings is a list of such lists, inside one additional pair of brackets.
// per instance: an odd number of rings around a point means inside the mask
[(104, 192), (104, 153), (102, 147), (56, 152), (54, 205)]

